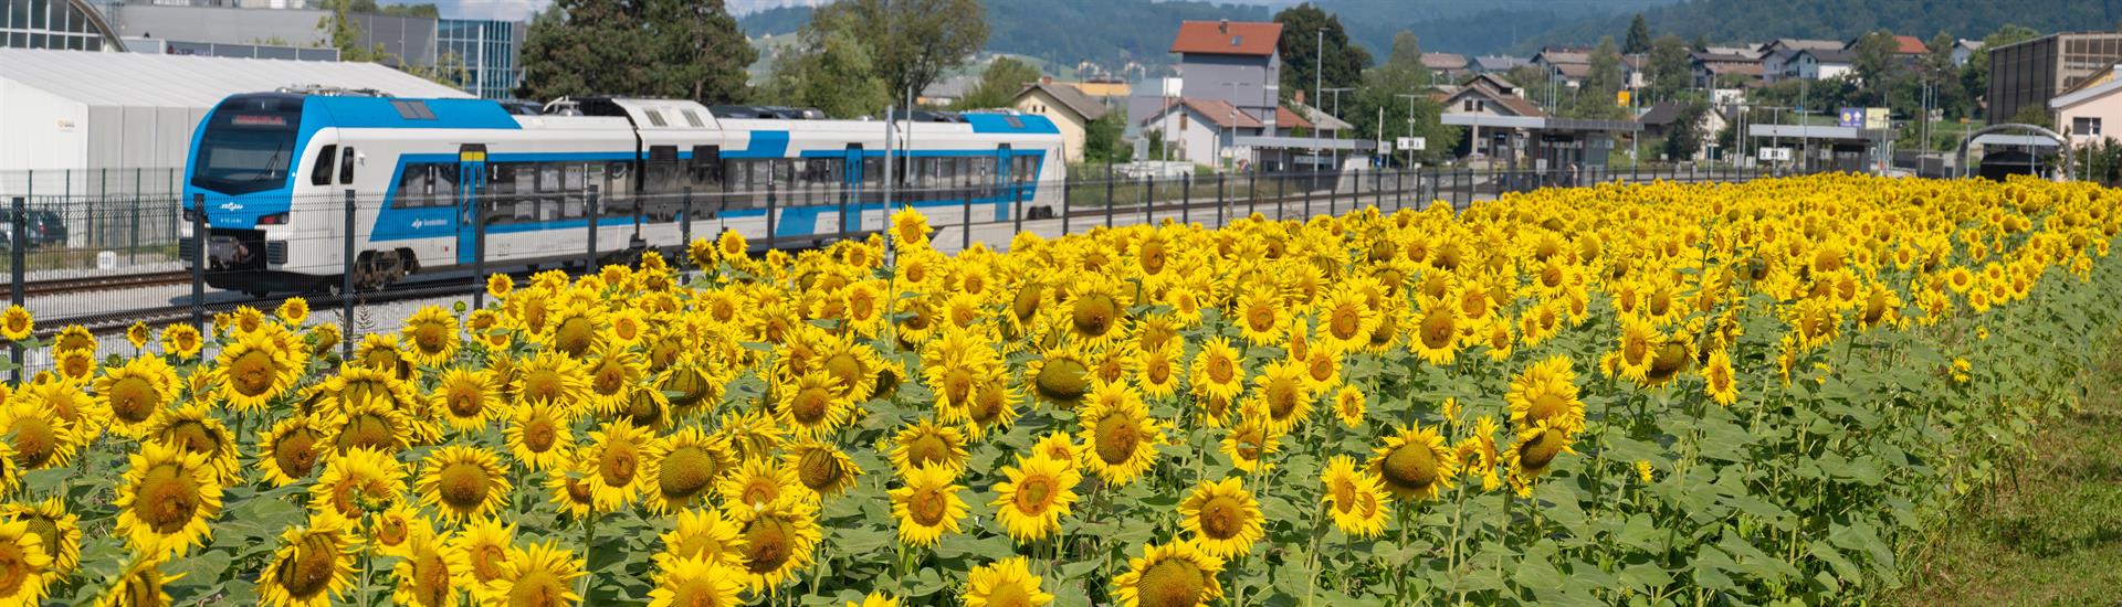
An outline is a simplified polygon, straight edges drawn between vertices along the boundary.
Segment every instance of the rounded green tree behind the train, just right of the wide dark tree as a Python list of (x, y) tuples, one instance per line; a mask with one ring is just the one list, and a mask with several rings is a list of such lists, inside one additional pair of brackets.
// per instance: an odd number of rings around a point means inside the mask
[(753, 91), (753, 100), (770, 106), (819, 108), (828, 117), (853, 119), (874, 115), (891, 104), (889, 85), (874, 74), (874, 53), (847, 15), (821, 15), (800, 30), (796, 49), (772, 59), (772, 76)]

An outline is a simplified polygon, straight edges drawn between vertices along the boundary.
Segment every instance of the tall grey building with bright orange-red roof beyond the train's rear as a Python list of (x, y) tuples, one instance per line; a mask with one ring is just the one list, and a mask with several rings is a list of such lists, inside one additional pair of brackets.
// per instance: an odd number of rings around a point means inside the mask
[(1282, 23), (1184, 21), (1171, 38), (1180, 53), (1182, 98), (1220, 100), (1267, 127), (1282, 98)]

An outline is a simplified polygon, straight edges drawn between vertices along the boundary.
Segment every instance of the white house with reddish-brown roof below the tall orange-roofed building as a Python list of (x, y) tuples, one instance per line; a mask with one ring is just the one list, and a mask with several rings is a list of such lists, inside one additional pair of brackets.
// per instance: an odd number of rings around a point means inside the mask
[(1297, 129), (1314, 129), (1297, 112), (1275, 108), (1275, 121), (1254, 119), (1250, 112), (1224, 100), (1173, 98), (1161, 110), (1140, 121), (1144, 134), (1163, 134), (1165, 149), (1176, 161), (1199, 166), (1248, 168), (1260, 153), (1241, 138), (1280, 136), (1288, 138)]

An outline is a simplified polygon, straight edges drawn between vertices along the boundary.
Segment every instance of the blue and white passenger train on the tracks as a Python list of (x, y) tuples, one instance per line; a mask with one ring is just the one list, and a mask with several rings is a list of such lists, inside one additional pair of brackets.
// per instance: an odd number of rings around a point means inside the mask
[[(329, 289), (346, 267), (356, 289), (467, 267), (482, 216), (494, 267), (581, 261), (592, 225), (596, 248), (615, 255), (726, 229), (755, 244), (772, 229), (775, 242), (800, 246), (842, 225), (883, 229), (885, 127), (679, 100), (562, 100), (537, 112), (492, 100), (242, 93), (193, 136), (180, 231), (189, 244), (204, 208), (208, 282), (248, 293)], [(1046, 117), (915, 112), (891, 127), (893, 202), (932, 225), (968, 210), (972, 221), (1042, 216), (1061, 204), (1061, 134)], [(352, 265), (346, 191), (359, 200)]]

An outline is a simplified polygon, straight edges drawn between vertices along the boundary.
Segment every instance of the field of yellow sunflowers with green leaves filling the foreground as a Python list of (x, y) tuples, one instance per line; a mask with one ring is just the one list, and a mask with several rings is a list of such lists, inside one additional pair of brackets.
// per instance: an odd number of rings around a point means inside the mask
[[(0, 605), (1863, 603), (2114, 335), (2122, 193), (1810, 176), (741, 236), (0, 393)], [(889, 240), (887, 240), (889, 238)]]

